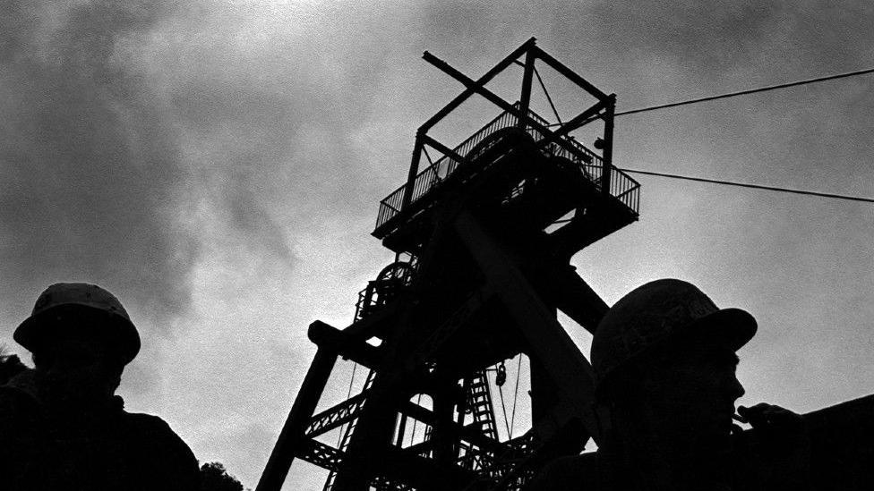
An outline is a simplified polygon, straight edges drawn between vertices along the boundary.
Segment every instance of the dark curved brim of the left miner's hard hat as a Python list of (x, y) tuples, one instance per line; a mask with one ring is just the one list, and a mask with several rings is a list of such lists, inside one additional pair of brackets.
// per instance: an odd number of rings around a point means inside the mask
[(136, 358), (141, 346), (136, 326), (118, 314), (81, 303), (58, 304), (24, 319), (15, 329), (13, 339), (28, 351), (38, 353), (53, 339), (82, 335), (78, 329), (65, 327), (69, 321), (64, 317), (81, 316), (83, 313), (101, 318), (100, 322), (88, 327), (93, 330), (94, 335), (99, 336), (107, 351), (116, 360), (126, 365)]

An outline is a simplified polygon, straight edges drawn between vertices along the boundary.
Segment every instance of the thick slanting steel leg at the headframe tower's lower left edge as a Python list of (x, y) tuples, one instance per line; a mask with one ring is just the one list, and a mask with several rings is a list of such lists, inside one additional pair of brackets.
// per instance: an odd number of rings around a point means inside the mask
[(296, 449), (304, 438), (304, 429), (313, 417), (315, 406), (319, 403), (336, 361), (337, 351), (322, 347), (316, 351), (313, 363), (304, 377), (304, 384), (297, 393), (295, 403), (288, 413), (286, 424), (279, 433), (276, 446), (270, 453), (270, 459), (264, 467), (255, 491), (279, 491), (282, 487), (291, 468), (291, 462), (295, 460)]

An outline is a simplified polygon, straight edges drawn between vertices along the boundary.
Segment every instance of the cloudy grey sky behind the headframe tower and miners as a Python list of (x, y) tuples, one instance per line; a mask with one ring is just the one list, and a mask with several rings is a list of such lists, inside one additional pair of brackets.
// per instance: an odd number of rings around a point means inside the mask
[[(26, 357), (12, 332), (47, 284), (107, 287), (143, 340), (128, 410), (254, 487), (313, 356), (306, 326), (346, 326), (390, 261), (369, 235), (377, 203), (405, 178), (416, 127), (460, 91), (422, 52), (476, 78), (532, 36), (619, 110), (874, 67), (862, 0), (7, 0), (0, 343)], [(572, 116), (579, 98), (554, 87)], [(872, 87), (617, 118), (615, 163), (874, 197)], [(673, 276), (750, 310), (741, 402), (803, 412), (874, 392), (874, 207), (639, 181), (640, 221), (573, 260), (605, 301)], [(296, 463), (286, 488), (323, 478)]]

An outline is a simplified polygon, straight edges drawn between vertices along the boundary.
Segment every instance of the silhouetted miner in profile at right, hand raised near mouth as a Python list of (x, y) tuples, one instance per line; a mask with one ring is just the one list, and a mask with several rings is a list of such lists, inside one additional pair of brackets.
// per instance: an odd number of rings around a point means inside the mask
[(756, 329), (748, 312), (718, 309), (680, 280), (657, 280), (627, 294), (592, 342), (604, 424), (598, 452), (554, 461), (527, 489), (806, 489), (810, 443), (801, 416), (791, 411), (739, 408), (762, 436), (744, 453), (767, 453), (771, 460), (759, 468), (761, 462), (735, 456), (734, 402), (744, 394), (735, 351)]

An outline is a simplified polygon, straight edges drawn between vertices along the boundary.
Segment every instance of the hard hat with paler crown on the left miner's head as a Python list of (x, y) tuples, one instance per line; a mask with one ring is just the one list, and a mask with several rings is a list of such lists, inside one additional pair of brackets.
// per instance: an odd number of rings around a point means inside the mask
[(96, 284), (58, 283), (39, 295), (30, 317), (13, 339), (39, 353), (57, 340), (99, 339), (107, 354), (122, 365), (140, 351), (140, 334), (116, 296)]

